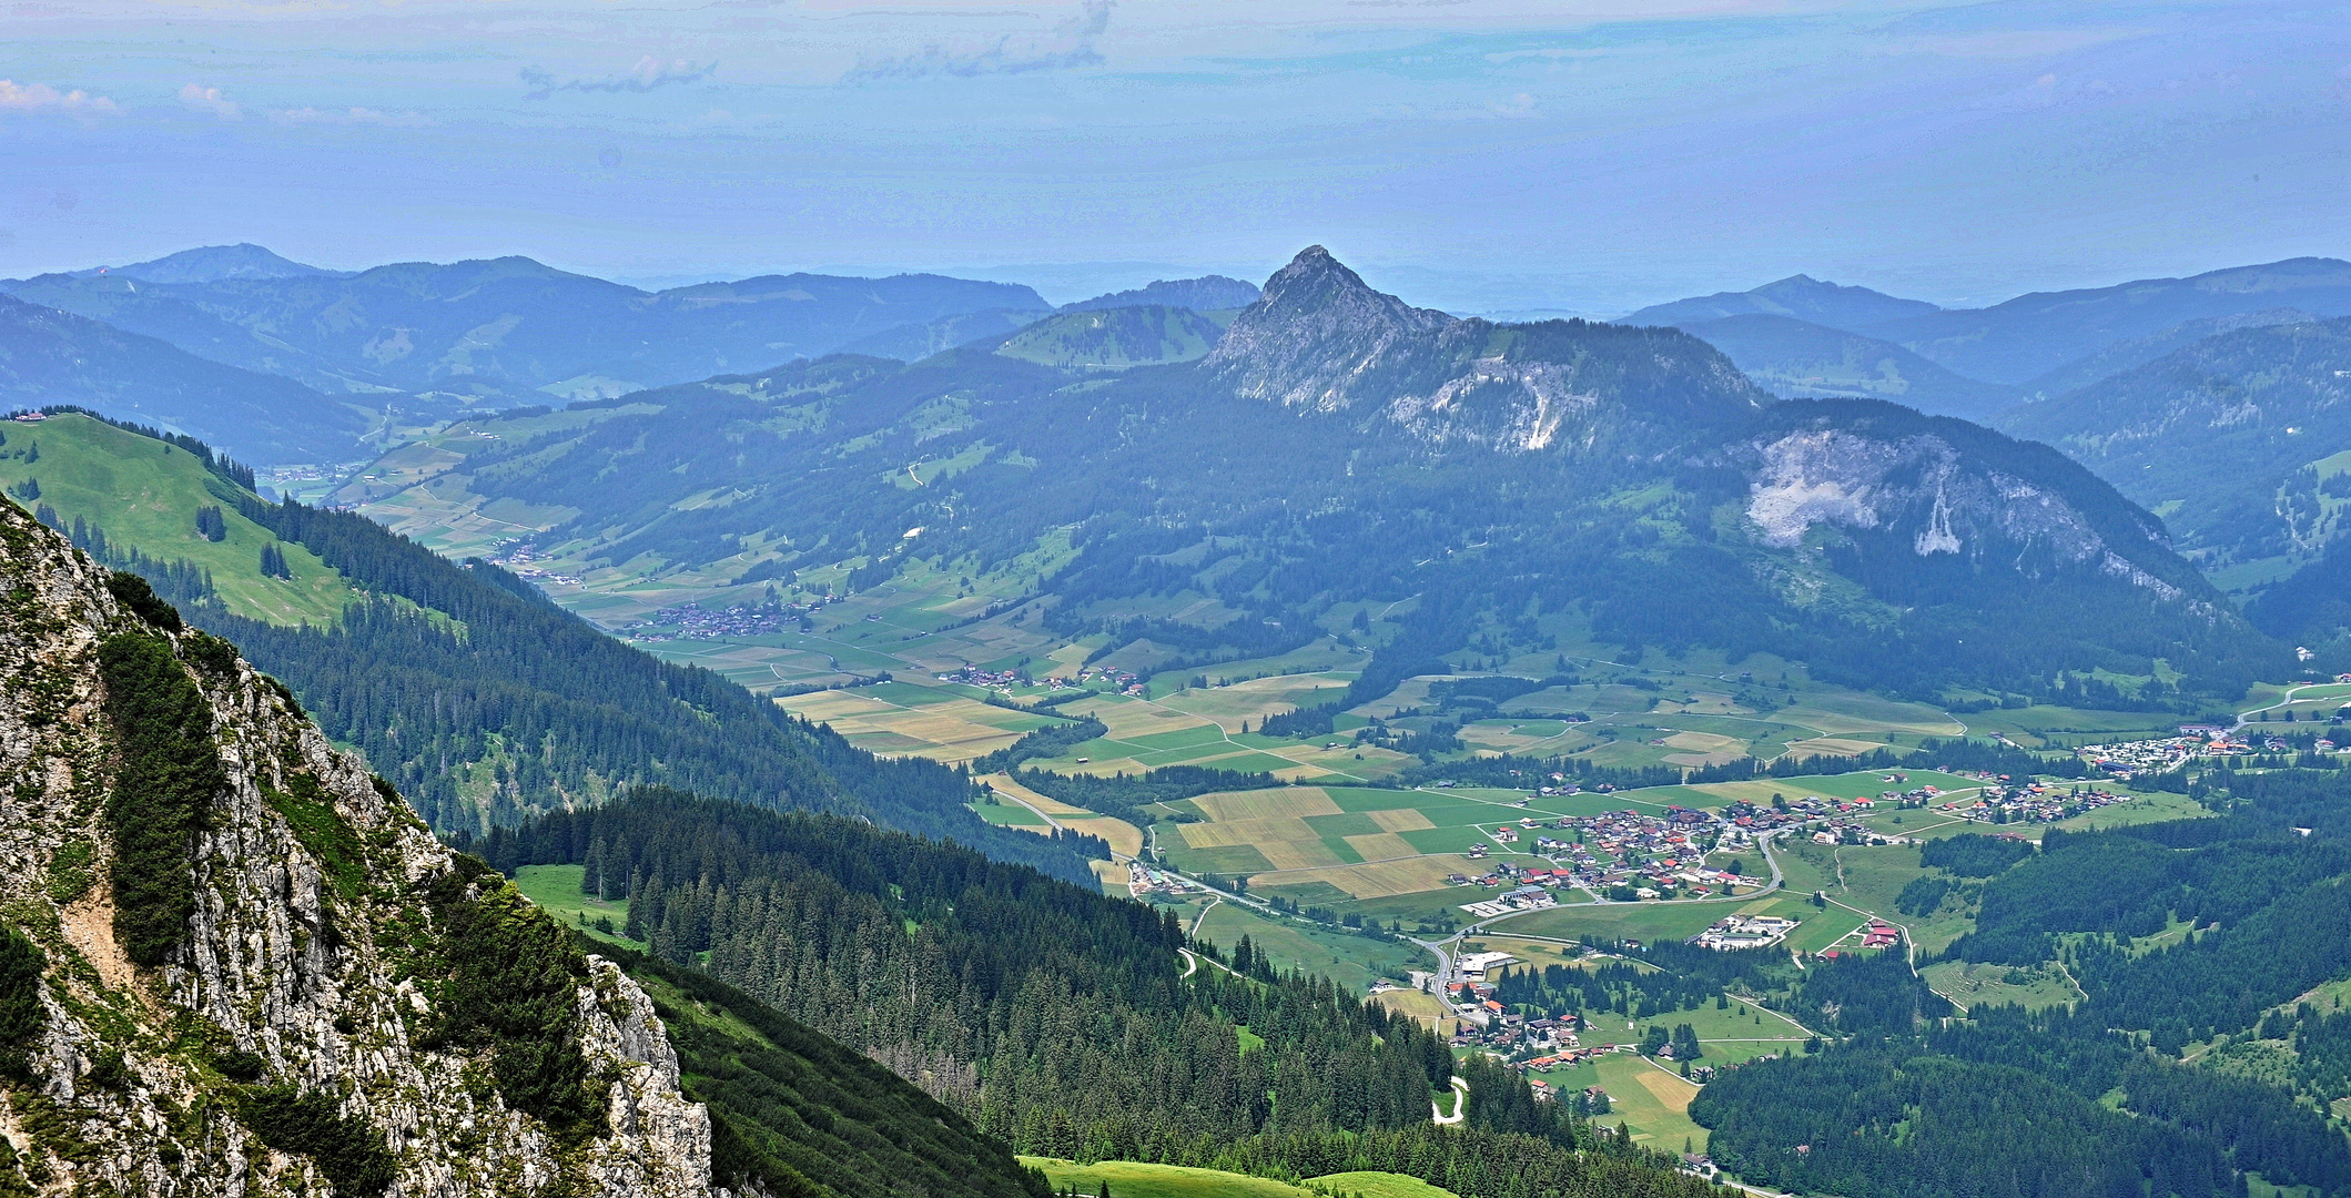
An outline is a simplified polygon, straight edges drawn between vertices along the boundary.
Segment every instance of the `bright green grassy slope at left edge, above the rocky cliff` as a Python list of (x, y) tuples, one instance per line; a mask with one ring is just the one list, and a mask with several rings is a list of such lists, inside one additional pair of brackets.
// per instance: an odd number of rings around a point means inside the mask
[[(237, 489), (221, 482), (195, 453), (113, 428), (89, 416), (52, 416), (0, 425), (0, 486), (28, 510), (47, 505), (59, 524), (75, 519), (106, 531), (106, 540), (160, 561), (193, 561), (212, 571), (228, 611), (273, 625), (331, 625), (353, 590), (310, 550), (280, 543), (237, 514)], [(38, 453), (33, 453), (38, 449)], [(24, 498), (26, 482), (40, 498)], [(223, 540), (195, 531), (195, 510), (219, 507)], [(261, 547), (284, 552), (292, 578), (261, 573)]]

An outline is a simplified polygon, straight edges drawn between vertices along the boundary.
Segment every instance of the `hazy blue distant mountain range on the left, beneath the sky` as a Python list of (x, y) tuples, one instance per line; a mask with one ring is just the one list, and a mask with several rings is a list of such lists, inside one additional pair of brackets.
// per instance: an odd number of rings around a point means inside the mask
[(769, 275), (639, 291), (529, 258), (200, 282), (40, 275), (0, 289), (339, 395), (515, 399), (581, 378), (644, 388), (759, 369), (955, 312), (1051, 310), (1027, 287), (938, 275)]

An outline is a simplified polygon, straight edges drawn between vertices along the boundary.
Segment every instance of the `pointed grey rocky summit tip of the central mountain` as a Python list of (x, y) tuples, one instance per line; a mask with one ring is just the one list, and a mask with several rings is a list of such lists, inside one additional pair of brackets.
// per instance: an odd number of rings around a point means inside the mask
[(1458, 322), (1373, 291), (1312, 244), (1265, 280), (1265, 298), (1241, 310), (1206, 366), (1244, 397), (1335, 411), (1373, 366), (1448, 324)]

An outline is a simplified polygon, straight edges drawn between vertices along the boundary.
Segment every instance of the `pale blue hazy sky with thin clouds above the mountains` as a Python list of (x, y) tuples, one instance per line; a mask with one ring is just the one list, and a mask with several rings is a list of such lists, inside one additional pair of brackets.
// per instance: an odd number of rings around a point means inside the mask
[(2351, 256), (2306, 2), (14, 0), (0, 275), (259, 242), (1067, 301), (1326, 244), (1455, 312)]

